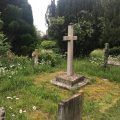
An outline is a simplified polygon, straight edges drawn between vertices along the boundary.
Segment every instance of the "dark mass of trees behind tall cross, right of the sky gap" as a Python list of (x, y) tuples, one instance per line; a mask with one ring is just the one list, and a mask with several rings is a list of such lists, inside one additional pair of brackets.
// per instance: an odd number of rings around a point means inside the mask
[[(52, 8), (52, 4), (51, 2), (49, 8)], [(74, 47), (76, 55), (88, 55), (107, 41), (113, 47), (119, 44), (120, 38), (119, 5), (118, 0), (58, 0), (54, 11), (56, 14), (51, 16), (49, 13), (47, 17), (49, 36), (57, 39), (61, 49), (65, 50), (62, 36), (67, 33), (68, 24), (74, 23), (78, 36)]]

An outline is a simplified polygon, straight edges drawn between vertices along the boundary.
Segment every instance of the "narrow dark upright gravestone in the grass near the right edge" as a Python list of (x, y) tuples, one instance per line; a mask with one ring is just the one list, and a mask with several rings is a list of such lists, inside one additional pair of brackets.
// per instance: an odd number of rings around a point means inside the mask
[(108, 65), (108, 57), (109, 57), (109, 43), (105, 43), (104, 64), (103, 64), (103, 67), (104, 67), (104, 68), (107, 68), (107, 65)]

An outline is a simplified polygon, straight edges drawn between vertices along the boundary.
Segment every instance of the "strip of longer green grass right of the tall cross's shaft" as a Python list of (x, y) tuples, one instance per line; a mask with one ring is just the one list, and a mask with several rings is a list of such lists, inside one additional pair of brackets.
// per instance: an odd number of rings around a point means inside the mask
[(88, 58), (77, 59), (74, 61), (74, 69), (77, 73), (85, 75), (98, 76), (110, 81), (120, 82), (120, 67), (109, 66), (104, 69), (101, 65), (96, 65), (94, 62), (91, 63)]

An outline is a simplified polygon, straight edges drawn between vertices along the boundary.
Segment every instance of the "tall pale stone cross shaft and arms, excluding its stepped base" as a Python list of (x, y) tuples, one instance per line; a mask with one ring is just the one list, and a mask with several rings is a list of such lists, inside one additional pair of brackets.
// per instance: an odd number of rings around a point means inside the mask
[(73, 35), (73, 25), (68, 26), (68, 36), (64, 36), (63, 40), (68, 40), (67, 50), (67, 75), (72, 76), (73, 73), (73, 41), (77, 40), (77, 36)]

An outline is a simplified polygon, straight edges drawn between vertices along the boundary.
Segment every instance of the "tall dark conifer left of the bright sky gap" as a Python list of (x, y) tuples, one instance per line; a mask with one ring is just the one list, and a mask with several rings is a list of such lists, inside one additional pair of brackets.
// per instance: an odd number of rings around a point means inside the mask
[(28, 55), (36, 44), (31, 6), (27, 0), (1, 0), (3, 31), (8, 36), (12, 50), (18, 55)]

